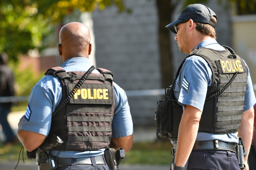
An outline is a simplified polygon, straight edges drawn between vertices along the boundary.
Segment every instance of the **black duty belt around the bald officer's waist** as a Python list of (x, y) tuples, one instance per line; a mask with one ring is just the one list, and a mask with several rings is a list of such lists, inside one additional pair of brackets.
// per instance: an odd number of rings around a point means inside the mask
[(57, 158), (57, 167), (78, 164), (105, 164), (105, 161), (103, 155), (88, 158)]

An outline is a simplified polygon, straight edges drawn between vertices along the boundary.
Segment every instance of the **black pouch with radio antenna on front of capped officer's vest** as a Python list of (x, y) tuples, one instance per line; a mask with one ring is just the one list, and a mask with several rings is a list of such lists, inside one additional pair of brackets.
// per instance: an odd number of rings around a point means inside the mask
[(175, 140), (178, 137), (183, 108), (177, 100), (171, 99), (171, 87), (168, 87), (167, 92), (165, 92), (164, 100), (157, 102), (155, 124), (157, 125), (157, 138), (159, 140), (161, 140), (159, 133), (170, 140)]

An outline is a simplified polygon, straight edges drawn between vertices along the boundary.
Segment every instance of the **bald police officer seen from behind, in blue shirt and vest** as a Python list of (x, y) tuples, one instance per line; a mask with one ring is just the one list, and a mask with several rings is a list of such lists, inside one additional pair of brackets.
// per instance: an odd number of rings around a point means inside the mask
[(51, 136), (58, 136), (58, 141), (64, 143), (50, 149), (57, 169), (109, 169), (104, 150), (111, 147), (128, 152), (132, 146), (133, 124), (127, 96), (112, 82), (110, 71), (95, 69), (52, 118), (56, 107), (91, 66), (88, 58), (92, 44), (85, 25), (64, 25), (59, 41), (63, 63), (49, 69), (33, 87), (26, 113), (19, 122), (19, 140), (27, 151), (33, 151), (51, 142)]

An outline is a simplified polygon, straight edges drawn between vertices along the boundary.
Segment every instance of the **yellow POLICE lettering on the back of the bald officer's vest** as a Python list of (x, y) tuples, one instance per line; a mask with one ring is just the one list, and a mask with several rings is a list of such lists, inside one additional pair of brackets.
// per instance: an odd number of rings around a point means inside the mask
[(74, 94), (74, 99), (77, 99), (78, 96), (81, 95), (82, 99), (109, 99), (109, 90), (108, 89), (92, 89), (93, 96), (91, 93), (91, 89), (78, 89)]

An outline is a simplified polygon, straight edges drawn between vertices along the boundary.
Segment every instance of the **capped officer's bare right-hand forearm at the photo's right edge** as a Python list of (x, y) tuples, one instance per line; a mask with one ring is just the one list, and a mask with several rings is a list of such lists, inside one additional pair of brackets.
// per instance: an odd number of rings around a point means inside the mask
[(238, 129), (238, 136), (242, 137), (243, 145), (247, 151), (247, 156), (245, 157), (245, 161), (247, 161), (252, 138), (253, 138), (253, 122), (254, 122), (254, 110), (252, 107), (249, 110), (243, 112), (241, 126)]

